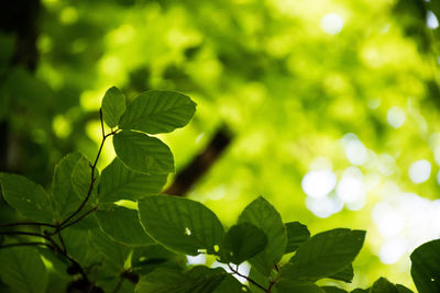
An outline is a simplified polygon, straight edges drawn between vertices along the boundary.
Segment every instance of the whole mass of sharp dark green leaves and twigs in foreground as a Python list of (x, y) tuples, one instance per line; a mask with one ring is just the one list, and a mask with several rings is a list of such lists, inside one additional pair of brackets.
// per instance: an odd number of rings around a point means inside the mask
[[(1, 173), (4, 200), (26, 219), (1, 226), (6, 290), (346, 292), (317, 281), (353, 280), (352, 262), (364, 230), (336, 228), (310, 236), (304, 224), (284, 223), (262, 196), (226, 228), (199, 202), (158, 195), (174, 171), (174, 158), (152, 135), (185, 126), (195, 110), (187, 95), (170, 91), (142, 93), (125, 106), (113, 87), (102, 100), (102, 142), (94, 161), (79, 153), (65, 156), (55, 167), (52, 192), (22, 176)], [(110, 136), (117, 157), (100, 172), (97, 161)], [(440, 289), (439, 245), (425, 244), (411, 255), (411, 274), (421, 293)], [(186, 264), (186, 256), (200, 253), (227, 269)], [(243, 262), (251, 266), (249, 275), (239, 271)], [(410, 290), (381, 278), (372, 288), (352, 292)]]

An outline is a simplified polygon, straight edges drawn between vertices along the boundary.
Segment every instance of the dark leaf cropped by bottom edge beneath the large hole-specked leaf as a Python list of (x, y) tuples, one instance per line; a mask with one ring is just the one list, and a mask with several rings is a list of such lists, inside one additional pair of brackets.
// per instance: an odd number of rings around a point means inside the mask
[(139, 281), (136, 293), (212, 293), (228, 273), (221, 269), (194, 267), (188, 272), (158, 268)]

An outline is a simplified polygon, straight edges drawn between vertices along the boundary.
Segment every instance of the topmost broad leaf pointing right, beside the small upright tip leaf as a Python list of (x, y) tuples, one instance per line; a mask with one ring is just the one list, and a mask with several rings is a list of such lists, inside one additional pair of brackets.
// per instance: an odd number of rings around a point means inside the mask
[(147, 91), (127, 109), (119, 123), (121, 129), (150, 134), (169, 133), (185, 126), (196, 112), (196, 103), (173, 91)]

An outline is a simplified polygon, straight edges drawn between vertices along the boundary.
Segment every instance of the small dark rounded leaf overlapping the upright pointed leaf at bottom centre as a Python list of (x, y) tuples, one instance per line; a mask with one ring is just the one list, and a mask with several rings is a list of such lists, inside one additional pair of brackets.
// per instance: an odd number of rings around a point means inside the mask
[(262, 251), (267, 245), (267, 236), (252, 224), (232, 226), (220, 246), (222, 262), (240, 264)]

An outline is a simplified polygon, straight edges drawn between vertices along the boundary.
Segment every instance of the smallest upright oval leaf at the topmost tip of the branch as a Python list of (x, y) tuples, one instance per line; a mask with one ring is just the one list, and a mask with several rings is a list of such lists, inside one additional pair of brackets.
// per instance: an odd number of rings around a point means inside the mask
[(117, 87), (108, 89), (102, 99), (101, 109), (106, 124), (109, 127), (117, 126), (125, 111), (125, 95)]

